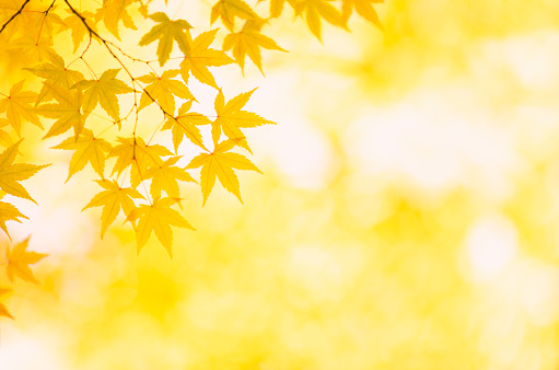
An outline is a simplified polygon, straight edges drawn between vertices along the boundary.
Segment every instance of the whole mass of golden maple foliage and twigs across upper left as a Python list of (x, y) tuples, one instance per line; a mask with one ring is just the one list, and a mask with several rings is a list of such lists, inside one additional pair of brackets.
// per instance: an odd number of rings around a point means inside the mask
[[(224, 28), (197, 30), (182, 19), (187, 14), (170, 18), (150, 11), (150, 1), (2, 0), (0, 55), (27, 77), (0, 91), (0, 144), (5, 148), (0, 155), (0, 188), (34, 201), (20, 182), (48, 163), (15, 161), (31, 124), (44, 130), (44, 138), (60, 138), (53, 150), (71, 151), (67, 181), (86, 166), (93, 169), (100, 189), (83, 209), (102, 207), (101, 238), (121, 216), (136, 232), (138, 252), (154, 233), (172, 256), (172, 227), (194, 230), (180, 211), (179, 184), (199, 186), (206, 204), (218, 181), (242, 201), (236, 172), (261, 173), (247, 157), (249, 129), (275, 124), (244, 109), (256, 89), (226, 96), (212, 69), (237, 63), (243, 70), (248, 57), (261, 71), (263, 49), (286, 51), (264, 31), (286, 5), (322, 39), (324, 21), (347, 28), (352, 12), (380, 27), (374, 2), (270, 0), (268, 11), (260, 14), (242, 0), (219, 0), (209, 23), (219, 21)], [(139, 30), (135, 16), (149, 20), (151, 30)], [(71, 53), (60, 51), (57, 44), (66, 33)], [(129, 54), (121, 42), (125, 33), (133, 34), (140, 46), (155, 47), (154, 59)], [(221, 47), (212, 46), (218, 33), (223, 34)], [(95, 68), (89, 62), (92, 53), (104, 53), (114, 68)], [(196, 112), (199, 101), (189, 90), (191, 78), (216, 90), (213, 115)], [(26, 88), (38, 81), (40, 89)], [(160, 122), (144, 119), (150, 106), (160, 111)], [(152, 134), (142, 137), (139, 127)], [(155, 143), (162, 136), (172, 137), (171, 148)], [(186, 147), (199, 154), (178, 165)], [(10, 203), (0, 201), (0, 228), (7, 234), (7, 221), (25, 218)], [(28, 265), (45, 255), (27, 252), (26, 246), (24, 241), (7, 250), (8, 276), (36, 282)], [(0, 315), (11, 316), (3, 305)]]

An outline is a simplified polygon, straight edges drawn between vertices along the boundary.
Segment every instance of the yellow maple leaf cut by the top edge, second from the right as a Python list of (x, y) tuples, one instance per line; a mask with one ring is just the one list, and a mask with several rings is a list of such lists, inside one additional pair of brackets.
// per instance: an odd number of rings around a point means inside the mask
[(302, 16), (305, 13), (306, 24), (311, 32), (322, 43), (322, 23), (321, 16), (330, 24), (339, 27), (346, 27), (346, 22), (340, 12), (329, 2), (333, 0), (303, 0), (295, 3), (295, 15)]

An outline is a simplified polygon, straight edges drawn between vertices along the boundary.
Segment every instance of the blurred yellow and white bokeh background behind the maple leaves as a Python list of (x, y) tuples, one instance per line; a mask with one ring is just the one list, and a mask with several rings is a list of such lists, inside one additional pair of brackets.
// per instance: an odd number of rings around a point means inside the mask
[[(161, 9), (207, 28), (211, 5)], [(173, 259), (154, 236), (137, 256), (120, 218), (101, 241), (93, 171), (65, 184), (70, 154), (30, 132), (25, 161), (53, 165), (12, 236), (50, 256), (7, 301), (0, 368), (557, 369), (559, 3), (376, 9), (384, 32), (353, 16), (324, 45), (287, 11), (266, 77), (214, 69), (278, 125), (248, 132), (244, 206), (184, 186)]]

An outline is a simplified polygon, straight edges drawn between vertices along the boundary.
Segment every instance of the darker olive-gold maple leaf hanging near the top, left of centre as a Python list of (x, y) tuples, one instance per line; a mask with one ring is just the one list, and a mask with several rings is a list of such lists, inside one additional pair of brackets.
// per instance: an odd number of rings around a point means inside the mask
[(185, 20), (172, 21), (167, 14), (162, 12), (151, 14), (150, 19), (159, 24), (154, 25), (142, 36), (139, 45), (149, 45), (159, 39), (156, 54), (160, 66), (163, 67), (168, 60), (171, 51), (173, 51), (173, 41), (178, 44), (178, 47), (185, 55), (190, 53), (190, 45), (188, 44), (190, 34), (188, 30), (193, 26), (188, 22)]

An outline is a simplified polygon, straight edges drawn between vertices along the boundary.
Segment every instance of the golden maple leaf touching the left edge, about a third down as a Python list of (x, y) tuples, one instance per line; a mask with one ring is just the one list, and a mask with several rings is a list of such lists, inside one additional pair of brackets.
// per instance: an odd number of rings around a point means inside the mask
[[(37, 94), (28, 91), (21, 91), (24, 80), (18, 82), (10, 89), (10, 95), (0, 100), (0, 113), (5, 112), (8, 123), (21, 137), (22, 118), (35, 126), (43, 128), (37, 114), (31, 103), (37, 99)], [(4, 95), (5, 96), (5, 95)]]

